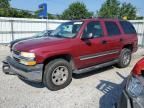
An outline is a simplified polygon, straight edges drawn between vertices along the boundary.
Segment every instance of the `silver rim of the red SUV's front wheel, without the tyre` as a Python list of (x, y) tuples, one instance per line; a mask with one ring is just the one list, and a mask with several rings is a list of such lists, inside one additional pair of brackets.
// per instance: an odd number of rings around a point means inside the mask
[(68, 79), (68, 69), (65, 66), (58, 66), (52, 72), (52, 82), (55, 85), (62, 85)]

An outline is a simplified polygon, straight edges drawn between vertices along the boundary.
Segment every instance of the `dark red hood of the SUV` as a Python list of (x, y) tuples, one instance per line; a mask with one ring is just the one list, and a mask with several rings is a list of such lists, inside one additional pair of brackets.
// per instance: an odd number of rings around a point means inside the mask
[(12, 49), (28, 52), (30, 50), (34, 50), (37, 48), (60, 44), (67, 40), (68, 39), (66, 38), (55, 38), (55, 37), (34, 38), (20, 41), (16, 43)]

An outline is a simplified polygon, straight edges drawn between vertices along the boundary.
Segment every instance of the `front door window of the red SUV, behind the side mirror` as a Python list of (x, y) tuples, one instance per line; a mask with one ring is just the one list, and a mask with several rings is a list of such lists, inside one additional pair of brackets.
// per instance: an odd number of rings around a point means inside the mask
[(83, 36), (87, 37), (88, 35), (92, 35), (93, 37), (101, 37), (103, 35), (103, 30), (100, 22), (92, 21), (87, 24), (84, 29)]

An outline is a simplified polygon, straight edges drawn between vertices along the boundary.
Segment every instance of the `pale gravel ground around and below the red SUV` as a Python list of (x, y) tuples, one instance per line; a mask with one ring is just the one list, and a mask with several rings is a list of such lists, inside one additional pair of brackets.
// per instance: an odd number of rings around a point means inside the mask
[[(0, 61), (9, 55), (8, 50), (8, 47), (0, 46)], [(110, 66), (73, 75), (72, 83), (59, 91), (5, 75), (0, 68), (0, 108), (111, 108), (121, 94), (124, 79), (142, 58), (143, 51), (140, 48), (125, 69)]]

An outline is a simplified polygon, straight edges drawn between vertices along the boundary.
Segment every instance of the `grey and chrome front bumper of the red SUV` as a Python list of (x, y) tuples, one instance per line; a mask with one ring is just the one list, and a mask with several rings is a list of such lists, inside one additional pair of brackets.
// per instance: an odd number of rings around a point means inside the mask
[(3, 61), (3, 72), (16, 74), (20, 78), (28, 81), (42, 82), (43, 64), (25, 66), (8, 56), (6, 60)]

